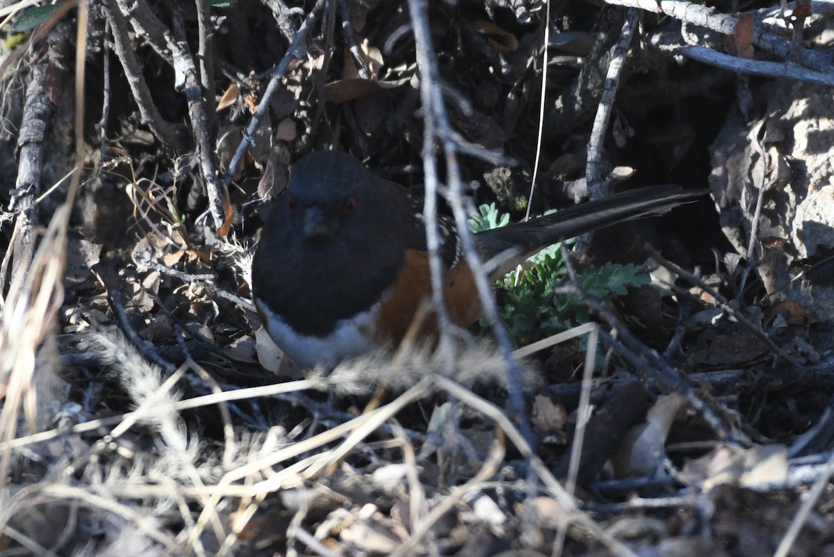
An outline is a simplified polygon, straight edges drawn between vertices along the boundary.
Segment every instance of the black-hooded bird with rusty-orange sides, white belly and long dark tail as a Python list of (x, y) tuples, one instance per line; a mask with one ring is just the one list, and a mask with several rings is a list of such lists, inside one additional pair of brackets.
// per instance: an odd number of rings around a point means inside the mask
[[(652, 186), (580, 203), (529, 221), (474, 234), (484, 262), (503, 276), (541, 249), (614, 223), (662, 213), (701, 195)], [(404, 338), (431, 295), (422, 201), (380, 178), (348, 153), (316, 151), (290, 170), (289, 186), (264, 211), (251, 287), (275, 344), (304, 368), (334, 369)], [(440, 216), (444, 299), (450, 321), (480, 317), (475, 279), (454, 220)], [(421, 334), (436, 334), (429, 319)]]

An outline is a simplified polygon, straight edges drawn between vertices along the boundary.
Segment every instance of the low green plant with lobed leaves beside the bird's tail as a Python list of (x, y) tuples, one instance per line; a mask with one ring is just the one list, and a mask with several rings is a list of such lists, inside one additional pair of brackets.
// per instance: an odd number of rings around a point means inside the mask
[[(492, 203), (480, 206), (479, 214), (470, 219), (470, 228), (477, 232), (509, 222), (510, 215), (500, 214)], [(536, 253), (522, 265), (520, 272), (512, 271), (500, 282), (501, 317), (516, 345), (530, 344), (590, 320), (580, 299), (553, 294), (566, 274), (560, 244), (555, 244)], [(623, 295), (628, 289), (649, 282), (648, 274), (633, 264), (605, 263), (580, 273), (585, 292), (604, 304), (610, 304), (615, 295)]]

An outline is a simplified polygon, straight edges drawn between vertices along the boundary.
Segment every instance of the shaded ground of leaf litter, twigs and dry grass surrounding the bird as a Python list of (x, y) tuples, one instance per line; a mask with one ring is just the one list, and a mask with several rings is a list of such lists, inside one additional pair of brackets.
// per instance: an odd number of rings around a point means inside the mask
[[(0, 554), (834, 555), (827, 3), (2, 4)], [(249, 283), (326, 148), (447, 215), (703, 195), (497, 284), (572, 331), (519, 364), (325, 374)]]

